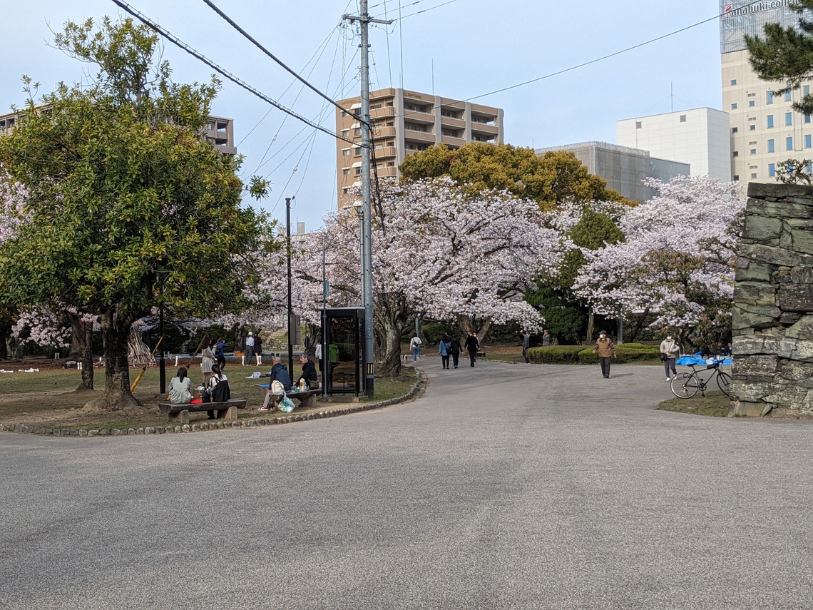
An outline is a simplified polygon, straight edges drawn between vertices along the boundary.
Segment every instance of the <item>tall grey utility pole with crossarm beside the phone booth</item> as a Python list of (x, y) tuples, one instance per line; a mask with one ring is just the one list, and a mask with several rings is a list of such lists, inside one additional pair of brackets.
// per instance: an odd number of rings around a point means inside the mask
[(372, 397), (374, 376), (372, 371), (374, 345), (372, 333), (372, 205), (370, 190), (370, 24), (392, 23), (390, 20), (376, 20), (367, 12), (367, 0), (359, 2), (359, 15), (343, 15), (349, 21), (358, 21), (361, 31), (361, 203), (362, 203), (362, 305), (364, 307), (364, 394)]

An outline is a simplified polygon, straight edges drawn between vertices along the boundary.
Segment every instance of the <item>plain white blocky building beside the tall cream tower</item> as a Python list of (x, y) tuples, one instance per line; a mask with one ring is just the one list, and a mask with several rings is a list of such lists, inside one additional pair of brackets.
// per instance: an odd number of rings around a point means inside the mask
[(728, 113), (693, 108), (615, 121), (616, 142), (688, 163), (693, 176), (731, 180)]

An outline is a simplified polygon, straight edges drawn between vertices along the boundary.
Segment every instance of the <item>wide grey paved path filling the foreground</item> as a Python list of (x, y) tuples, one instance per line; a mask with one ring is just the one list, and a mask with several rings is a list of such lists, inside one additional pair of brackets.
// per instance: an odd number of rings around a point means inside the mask
[(0, 608), (813, 608), (811, 422), (654, 411), (659, 367), (425, 365), (353, 416), (0, 434)]

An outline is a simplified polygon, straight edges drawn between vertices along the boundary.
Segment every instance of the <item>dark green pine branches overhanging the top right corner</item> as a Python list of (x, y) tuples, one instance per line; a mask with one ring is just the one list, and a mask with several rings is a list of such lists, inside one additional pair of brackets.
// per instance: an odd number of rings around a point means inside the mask
[[(813, 0), (798, 0), (791, 9), (799, 14), (797, 26), (765, 24), (764, 37), (746, 34), (749, 63), (754, 72), (763, 81), (785, 81), (785, 88), (776, 94), (799, 89), (813, 77), (813, 21), (806, 18), (813, 11)], [(793, 102), (793, 110), (813, 113), (813, 95)]]

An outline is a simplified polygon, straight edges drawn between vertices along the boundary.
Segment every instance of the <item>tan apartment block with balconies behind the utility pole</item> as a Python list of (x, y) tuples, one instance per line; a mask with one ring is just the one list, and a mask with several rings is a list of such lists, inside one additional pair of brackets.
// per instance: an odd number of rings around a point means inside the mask
[[(358, 111), (361, 98), (339, 100)], [(433, 144), (459, 148), (469, 142), (502, 142), (502, 109), (461, 102), (406, 89), (370, 93), (370, 119), (376, 173), (398, 176), (398, 165), (415, 150)], [(346, 111), (336, 110), (336, 133), (354, 140), (337, 140), (336, 168), (339, 207), (352, 205), (354, 187), (361, 185), (361, 124)]]

